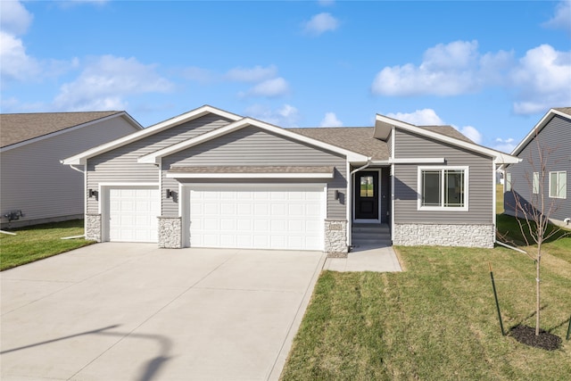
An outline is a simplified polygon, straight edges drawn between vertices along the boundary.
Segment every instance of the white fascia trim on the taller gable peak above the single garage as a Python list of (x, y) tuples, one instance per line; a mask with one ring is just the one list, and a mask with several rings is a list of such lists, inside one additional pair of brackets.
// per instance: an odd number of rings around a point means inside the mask
[(187, 121), (198, 119), (209, 113), (219, 115), (229, 120), (240, 120), (242, 118), (241, 116), (233, 114), (231, 112), (225, 112), (215, 107), (205, 105), (193, 111), (186, 112), (182, 115), (178, 115), (178, 117), (171, 118), (169, 120), (164, 120), (161, 123), (155, 124), (151, 127), (144, 128), (143, 130), (138, 131), (134, 134), (130, 134), (126, 137), (120, 137), (119, 139), (113, 140), (112, 142), (109, 142), (107, 144), (99, 145), (82, 153), (78, 153), (75, 156), (71, 156), (67, 159), (62, 160), (62, 164), (85, 164), (86, 160), (90, 157), (93, 157), (100, 153), (111, 151), (112, 149), (115, 149), (122, 145), (128, 145), (129, 143), (136, 142), (137, 140), (156, 134), (157, 132), (160, 132), (164, 129), (172, 128), (178, 126), (181, 123), (186, 123)]

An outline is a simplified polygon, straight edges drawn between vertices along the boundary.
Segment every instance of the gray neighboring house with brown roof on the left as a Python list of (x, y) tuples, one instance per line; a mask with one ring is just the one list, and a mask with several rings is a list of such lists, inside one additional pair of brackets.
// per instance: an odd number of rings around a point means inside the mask
[(0, 114), (2, 227), (83, 219), (84, 176), (60, 161), (141, 128), (126, 112)]

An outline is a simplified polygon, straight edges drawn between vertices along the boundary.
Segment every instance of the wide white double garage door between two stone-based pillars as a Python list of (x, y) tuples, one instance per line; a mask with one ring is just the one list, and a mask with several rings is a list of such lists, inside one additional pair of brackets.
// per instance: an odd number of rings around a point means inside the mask
[(190, 246), (323, 250), (324, 186), (190, 189)]

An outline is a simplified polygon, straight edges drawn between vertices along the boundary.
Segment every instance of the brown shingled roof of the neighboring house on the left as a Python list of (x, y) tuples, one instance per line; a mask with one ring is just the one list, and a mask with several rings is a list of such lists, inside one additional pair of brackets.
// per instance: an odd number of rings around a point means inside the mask
[(0, 114), (2, 148), (10, 145), (28, 144), (39, 138), (52, 137), (82, 128), (94, 122), (124, 116), (135, 128), (142, 128), (127, 112), (35, 112)]

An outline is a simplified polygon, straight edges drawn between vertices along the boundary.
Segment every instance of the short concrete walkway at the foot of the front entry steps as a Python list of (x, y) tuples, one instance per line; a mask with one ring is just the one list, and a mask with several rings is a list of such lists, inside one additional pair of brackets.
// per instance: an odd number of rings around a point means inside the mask
[(347, 258), (327, 258), (323, 269), (333, 271), (402, 271), (393, 247), (355, 248)]

